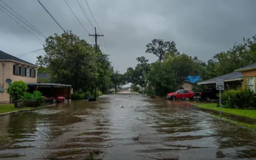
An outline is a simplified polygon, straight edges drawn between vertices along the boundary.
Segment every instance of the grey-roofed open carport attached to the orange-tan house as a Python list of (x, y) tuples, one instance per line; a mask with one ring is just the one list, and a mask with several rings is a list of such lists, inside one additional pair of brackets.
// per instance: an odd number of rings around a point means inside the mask
[(225, 89), (234, 89), (242, 85), (243, 79), (244, 76), (242, 76), (241, 72), (232, 72), (197, 84), (201, 84), (202, 92), (204, 92), (204, 88), (215, 88), (216, 80), (224, 80)]

